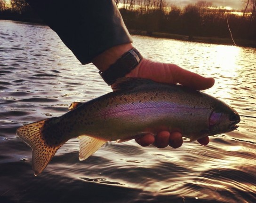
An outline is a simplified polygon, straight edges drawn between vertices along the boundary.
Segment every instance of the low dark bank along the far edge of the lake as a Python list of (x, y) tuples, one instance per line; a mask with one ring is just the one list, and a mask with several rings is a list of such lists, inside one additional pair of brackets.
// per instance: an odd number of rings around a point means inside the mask
[[(31, 18), (25, 18), (25, 17), (19, 18), (14, 16), (5, 16), (5, 17), (1, 16), (0, 20), (45, 24), (41, 19), (31, 19)], [(132, 29), (128, 29), (128, 31), (130, 34), (133, 34), (133, 35), (140, 35), (140, 36), (147, 36), (147, 37), (154, 37), (154, 38), (176, 39), (176, 40), (188, 41), (188, 42), (235, 46), (231, 38), (193, 36), (192, 39), (189, 39), (188, 35), (181, 35), (181, 34), (172, 34), (172, 33), (155, 32), (155, 31), (148, 32), (148, 31), (140, 31), (140, 30), (132, 30)], [(256, 48), (256, 41), (254, 40), (234, 39), (234, 41), (238, 47)]]

